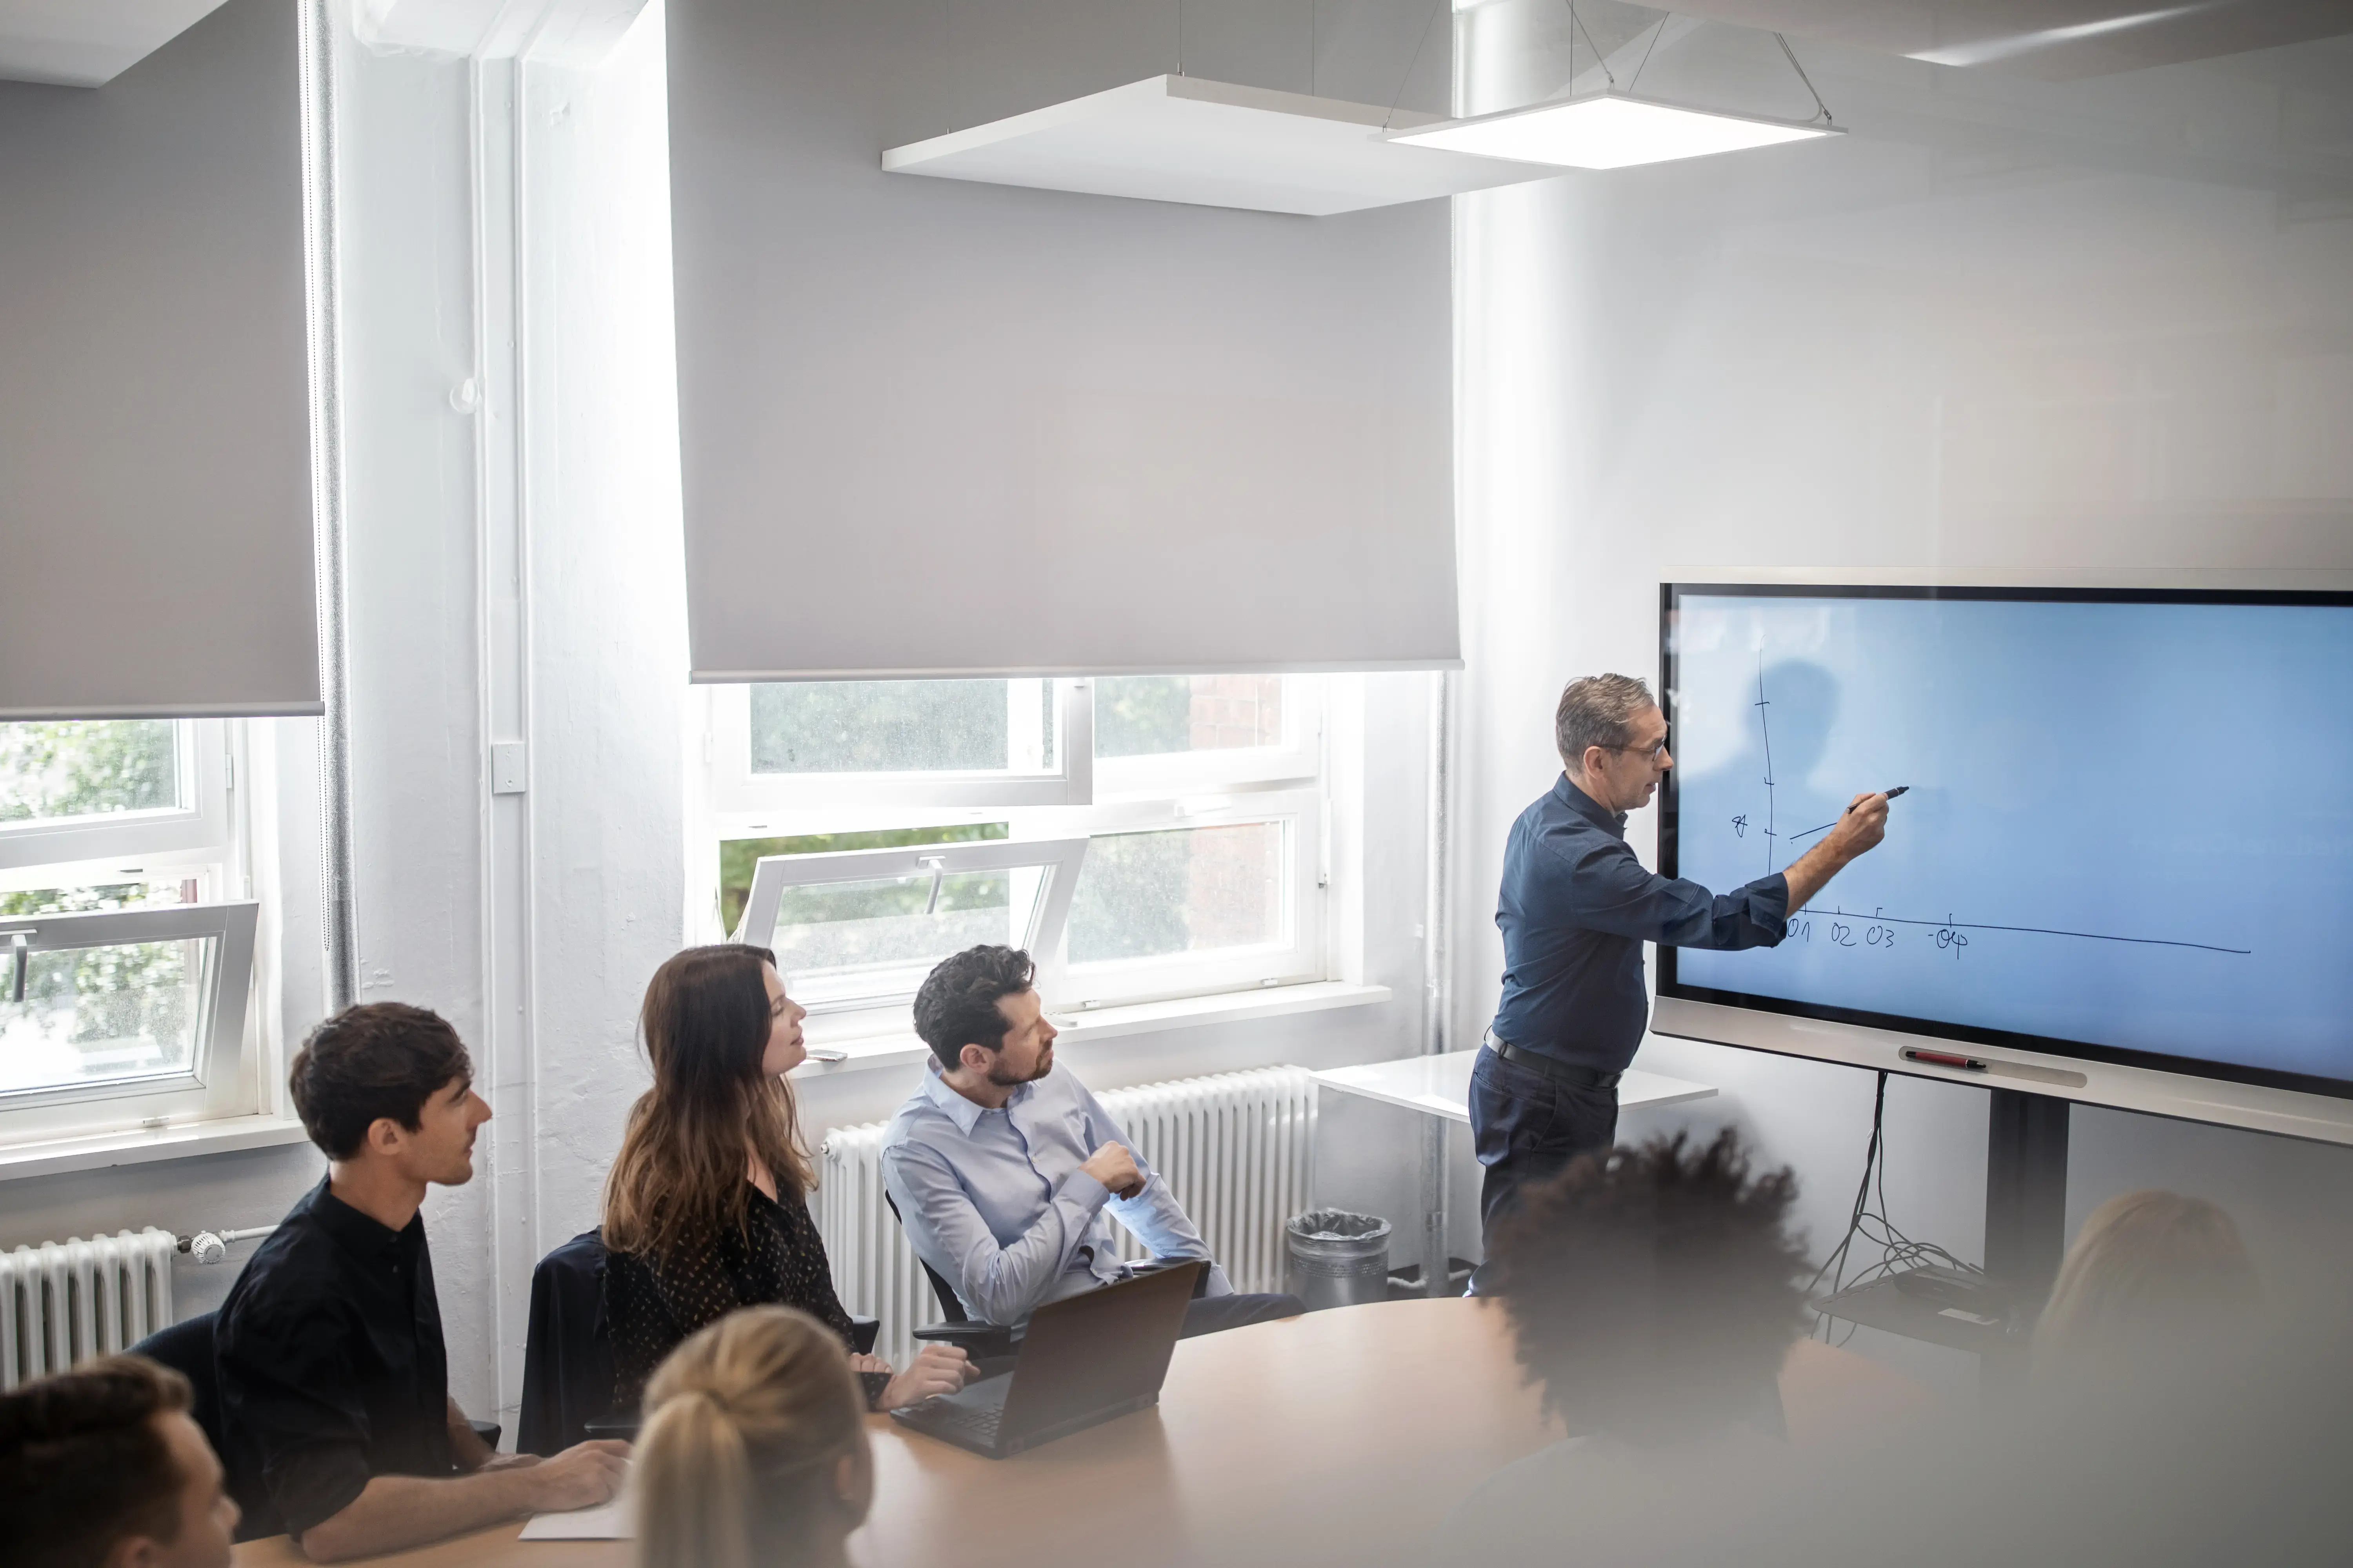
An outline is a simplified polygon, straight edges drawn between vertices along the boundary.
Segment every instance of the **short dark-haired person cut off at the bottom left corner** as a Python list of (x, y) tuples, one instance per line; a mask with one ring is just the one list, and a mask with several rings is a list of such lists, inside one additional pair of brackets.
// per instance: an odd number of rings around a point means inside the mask
[(188, 1380), (141, 1356), (0, 1394), (0, 1519), (16, 1568), (228, 1568), (238, 1505), (188, 1418)]

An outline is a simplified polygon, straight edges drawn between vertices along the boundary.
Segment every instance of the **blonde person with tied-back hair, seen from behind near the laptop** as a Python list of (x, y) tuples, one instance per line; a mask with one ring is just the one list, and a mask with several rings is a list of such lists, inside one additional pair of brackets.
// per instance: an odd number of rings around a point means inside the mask
[(645, 1389), (638, 1568), (840, 1568), (873, 1490), (866, 1392), (807, 1312), (729, 1312)]

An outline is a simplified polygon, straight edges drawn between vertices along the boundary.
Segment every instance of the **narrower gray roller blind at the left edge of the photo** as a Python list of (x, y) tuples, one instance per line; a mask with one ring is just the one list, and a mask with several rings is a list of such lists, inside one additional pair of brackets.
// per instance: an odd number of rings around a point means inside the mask
[(294, 0), (0, 82), (0, 717), (318, 712)]

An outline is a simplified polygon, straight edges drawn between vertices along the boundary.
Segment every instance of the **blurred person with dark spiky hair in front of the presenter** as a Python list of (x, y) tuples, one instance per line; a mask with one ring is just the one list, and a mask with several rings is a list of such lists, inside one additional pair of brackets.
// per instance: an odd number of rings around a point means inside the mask
[[(1489, 1476), (1440, 1533), (1447, 1561), (1619, 1561), (1701, 1476), (1774, 1462), (1779, 1373), (1807, 1324), (1788, 1171), (1751, 1178), (1725, 1128), (1579, 1157), (1497, 1218), (1480, 1281), (1569, 1432)], [(1588, 1547), (1595, 1552), (1588, 1554)]]

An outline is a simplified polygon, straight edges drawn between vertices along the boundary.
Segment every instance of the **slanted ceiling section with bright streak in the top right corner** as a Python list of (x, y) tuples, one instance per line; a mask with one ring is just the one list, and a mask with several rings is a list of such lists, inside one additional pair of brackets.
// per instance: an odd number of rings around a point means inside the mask
[(1791, 38), (2075, 80), (2353, 33), (2348, 0), (1675, 0)]

